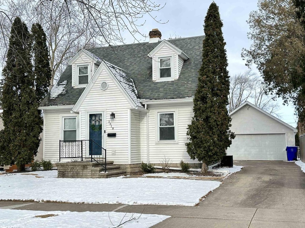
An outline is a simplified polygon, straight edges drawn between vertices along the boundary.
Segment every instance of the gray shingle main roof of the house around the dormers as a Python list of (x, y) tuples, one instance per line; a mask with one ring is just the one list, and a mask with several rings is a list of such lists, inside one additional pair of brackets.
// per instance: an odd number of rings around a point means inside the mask
[[(134, 81), (140, 99), (177, 99), (195, 95), (198, 70), (202, 64), (204, 36), (168, 40), (189, 56), (184, 61), (178, 80), (152, 81), (152, 60), (147, 56), (159, 43), (134, 43), (88, 49), (95, 56), (124, 69)], [(59, 83), (67, 80), (66, 93), (51, 99), (48, 94), (40, 106), (74, 105), (84, 88), (72, 87), (71, 66), (67, 66)]]

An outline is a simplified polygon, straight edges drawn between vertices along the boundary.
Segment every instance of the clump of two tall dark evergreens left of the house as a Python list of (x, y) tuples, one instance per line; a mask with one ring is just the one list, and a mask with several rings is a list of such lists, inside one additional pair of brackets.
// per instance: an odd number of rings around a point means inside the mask
[[(41, 45), (43, 33), (39, 26), (34, 27), (38, 28), (38, 32), (31, 39), (27, 26), (21, 19), (17, 17), (14, 20), (6, 66), (2, 72), (0, 100), (4, 129), (0, 132), (0, 163), (15, 163), (18, 171), (24, 170), (25, 164), (31, 162), (37, 154), (43, 124), (38, 105), (47, 92), (50, 78), (46, 76), (48, 71), (44, 68), (45, 46)], [(39, 50), (37, 45), (41, 45)], [(35, 57), (34, 60), (32, 57)]]

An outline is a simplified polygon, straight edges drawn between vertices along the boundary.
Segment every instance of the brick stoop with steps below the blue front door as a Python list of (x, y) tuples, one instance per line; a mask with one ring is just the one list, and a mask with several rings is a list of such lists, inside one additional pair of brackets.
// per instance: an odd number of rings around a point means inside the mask
[[(101, 161), (101, 164), (103, 162)], [(126, 175), (126, 170), (119, 165), (114, 165), (113, 161), (106, 161), (107, 172), (97, 162), (76, 161), (57, 163), (58, 178), (109, 178)]]

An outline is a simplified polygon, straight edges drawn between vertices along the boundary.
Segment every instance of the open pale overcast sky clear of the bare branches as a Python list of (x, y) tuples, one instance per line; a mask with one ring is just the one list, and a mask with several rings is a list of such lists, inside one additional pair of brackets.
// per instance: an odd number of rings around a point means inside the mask
[[(159, 24), (152, 19), (145, 17), (146, 22), (141, 27), (141, 32), (148, 35), (153, 28), (158, 28), (162, 33), (162, 39), (170, 37), (190, 37), (203, 35), (203, 21), (207, 9), (212, 1), (210, 0), (155, 0), (156, 3), (164, 5), (159, 12), (152, 13), (161, 19), (165, 24)], [(242, 48), (249, 48), (251, 40), (247, 38), (249, 26), (246, 20), (249, 13), (257, 9), (257, 0), (215, 0), (219, 6), (220, 17), (223, 21), (223, 33), (228, 56), (228, 71), (231, 75), (244, 72), (248, 69), (245, 61), (241, 58)], [(148, 39), (143, 40), (148, 41)], [(132, 40), (126, 40), (132, 43)], [(255, 67), (254, 67), (254, 70)], [(282, 104), (282, 100), (278, 99)], [(279, 111), (281, 119), (292, 126), (296, 126), (292, 105), (283, 106)]]

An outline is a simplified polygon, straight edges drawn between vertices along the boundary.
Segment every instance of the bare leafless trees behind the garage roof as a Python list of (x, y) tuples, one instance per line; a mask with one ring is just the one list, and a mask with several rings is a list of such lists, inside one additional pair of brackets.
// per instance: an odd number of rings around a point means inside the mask
[(251, 69), (230, 77), (229, 112), (249, 101), (264, 111), (279, 116), (276, 97), (267, 94), (267, 85)]

